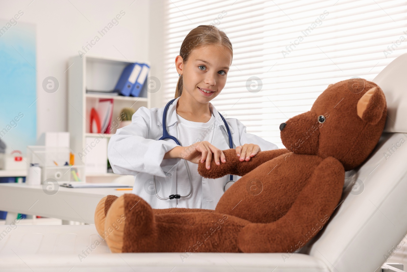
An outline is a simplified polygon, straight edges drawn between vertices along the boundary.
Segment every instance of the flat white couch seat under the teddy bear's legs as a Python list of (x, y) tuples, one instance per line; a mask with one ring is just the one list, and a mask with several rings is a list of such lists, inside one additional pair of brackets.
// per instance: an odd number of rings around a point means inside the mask
[[(5, 229), (0, 226), (0, 232)], [(94, 225), (17, 226), (0, 241), (0, 271), (329, 272), (323, 261), (306, 254), (285, 260), (281, 253), (193, 253), (183, 260), (181, 253), (119, 256), (104, 241), (95, 245), (96, 240), (102, 241)], [(85, 256), (82, 250), (91, 245), (94, 249)]]

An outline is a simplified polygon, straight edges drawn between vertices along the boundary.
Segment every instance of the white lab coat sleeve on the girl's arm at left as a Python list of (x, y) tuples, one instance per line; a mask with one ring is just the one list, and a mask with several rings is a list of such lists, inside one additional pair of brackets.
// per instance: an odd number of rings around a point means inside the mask
[(175, 171), (174, 166), (181, 159), (163, 158), (166, 152), (178, 145), (169, 139), (149, 139), (149, 130), (158, 127), (153, 113), (146, 107), (140, 107), (133, 114), (131, 124), (119, 128), (110, 138), (107, 156), (114, 173), (137, 175), (138, 172), (146, 172), (166, 177), (168, 172)]

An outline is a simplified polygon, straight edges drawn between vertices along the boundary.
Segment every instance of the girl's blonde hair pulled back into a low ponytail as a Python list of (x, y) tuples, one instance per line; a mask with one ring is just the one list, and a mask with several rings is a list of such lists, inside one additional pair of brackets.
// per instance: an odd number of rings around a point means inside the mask
[[(184, 64), (188, 61), (189, 53), (191, 53), (193, 49), (206, 45), (224, 46), (230, 50), (233, 58), (232, 43), (225, 32), (213, 25), (200, 25), (191, 30), (181, 44), (179, 55), (182, 57)], [(181, 96), (182, 86), (183, 81), (181, 75), (178, 78), (177, 88), (175, 89), (175, 98)]]

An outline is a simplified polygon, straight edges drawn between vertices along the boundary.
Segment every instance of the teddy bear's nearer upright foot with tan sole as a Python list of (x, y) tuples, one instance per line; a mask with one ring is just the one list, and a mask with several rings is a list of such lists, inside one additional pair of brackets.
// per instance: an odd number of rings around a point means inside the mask
[(141, 197), (124, 194), (106, 214), (102, 238), (112, 252), (156, 252), (157, 228), (151, 206)]

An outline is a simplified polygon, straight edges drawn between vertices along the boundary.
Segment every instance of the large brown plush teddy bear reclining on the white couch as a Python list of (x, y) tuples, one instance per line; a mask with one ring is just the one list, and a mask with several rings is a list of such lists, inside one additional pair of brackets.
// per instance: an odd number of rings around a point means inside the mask
[(330, 84), (310, 111), (280, 125), (287, 148), (239, 161), (212, 159), (203, 177), (242, 176), (215, 210), (152, 209), (134, 194), (104, 197), (95, 225), (112, 252), (293, 252), (326, 224), (339, 204), (345, 171), (368, 157), (382, 134), (387, 106), (375, 83)]

